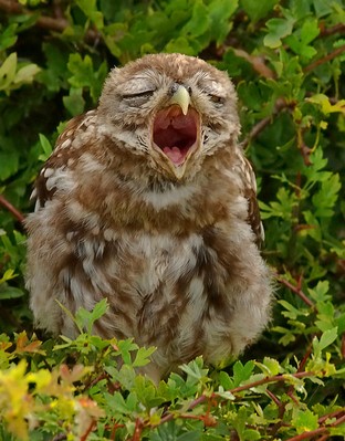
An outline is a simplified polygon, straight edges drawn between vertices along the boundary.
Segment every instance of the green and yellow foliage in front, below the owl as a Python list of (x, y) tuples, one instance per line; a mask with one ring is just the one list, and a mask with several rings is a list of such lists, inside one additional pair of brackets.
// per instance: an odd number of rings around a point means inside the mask
[(229, 375), (210, 372), (199, 357), (154, 385), (136, 372), (154, 349), (83, 330), (105, 311), (105, 301), (91, 313), (81, 309), (75, 317), (81, 334), (74, 340), (62, 336), (61, 344), (29, 340), (25, 332), (14, 343), (2, 335), (6, 439), (216, 441), (231, 431), (239, 440), (345, 435), (344, 407), (336, 399), (318, 400), (326, 385), (345, 375), (331, 360), (337, 327), (314, 336), (313, 354), (300, 364), (289, 357), (281, 364), (270, 357), (236, 361)]

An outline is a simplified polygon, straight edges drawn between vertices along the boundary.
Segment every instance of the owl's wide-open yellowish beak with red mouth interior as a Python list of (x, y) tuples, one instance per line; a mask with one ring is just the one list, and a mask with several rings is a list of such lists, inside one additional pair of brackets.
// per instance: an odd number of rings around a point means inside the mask
[(178, 85), (169, 106), (159, 111), (153, 126), (153, 147), (177, 179), (186, 171), (188, 158), (200, 146), (200, 115), (190, 107), (190, 95)]

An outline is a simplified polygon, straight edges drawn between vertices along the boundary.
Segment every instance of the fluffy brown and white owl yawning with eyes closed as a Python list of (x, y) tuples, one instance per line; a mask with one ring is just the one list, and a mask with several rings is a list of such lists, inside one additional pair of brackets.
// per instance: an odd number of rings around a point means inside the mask
[(36, 325), (74, 337), (59, 303), (74, 314), (106, 297), (94, 333), (155, 346), (155, 380), (251, 344), (272, 285), (239, 133), (234, 87), (205, 61), (153, 54), (114, 69), (35, 182), (27, 285)]

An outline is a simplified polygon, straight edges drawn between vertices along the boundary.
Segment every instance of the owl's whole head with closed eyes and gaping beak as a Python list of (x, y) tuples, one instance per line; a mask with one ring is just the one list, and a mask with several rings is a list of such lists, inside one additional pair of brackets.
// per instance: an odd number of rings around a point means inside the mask
[(142, 155), (161, 176), (181, 180), (239, 134), (237, 97), (223, 72), (181, 54), (147, 55), (109, 74), (100, 127)]

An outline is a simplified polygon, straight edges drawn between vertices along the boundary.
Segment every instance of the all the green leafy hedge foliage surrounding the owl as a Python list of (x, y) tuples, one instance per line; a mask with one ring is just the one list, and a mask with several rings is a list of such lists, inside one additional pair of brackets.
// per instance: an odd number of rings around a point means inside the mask
[[(343, 440), (343, 0), (0, 0), (0, 440)], [(33, 334), (23, 272), (33, 181), (114, 65), (151, 52), (228, 71), (276, 279), (272, 323), (240, 360), (159, 386), (151, 349)], [(122, 359), (122, 363), (118, 360)]]

